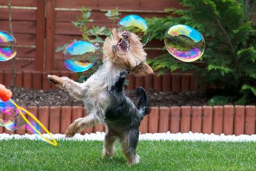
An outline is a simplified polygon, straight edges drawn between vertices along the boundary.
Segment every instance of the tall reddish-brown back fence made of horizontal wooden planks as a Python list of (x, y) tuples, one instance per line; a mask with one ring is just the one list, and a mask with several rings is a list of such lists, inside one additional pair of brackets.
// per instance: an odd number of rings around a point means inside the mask
[[(55, 49), (70, 40), (80, 40), (81, 32), (71, 24), (80, 16), (82, 6), (92, 10), (94, 22), (88, 24), (112, 28), (106, 19), (107, 9), (118, 7), (120, 18), (129, 14), (142, 17), (165, 17), (167, 7), (180, 8), (178, 0), (12, 0), (12, 28), (18, 42), (15, 69), (17, 71), (63, 71), (63, 55)], [(0, 30), (9, 31), (8, 0), (0, 0)], [(160, 26), (159, 26), (160, 27)], [(163, 42), (152, 41), (147, 45), (149, 58), (162, 54)], [(0, 70), (11, 70), (11, 61), (1, 62)]]

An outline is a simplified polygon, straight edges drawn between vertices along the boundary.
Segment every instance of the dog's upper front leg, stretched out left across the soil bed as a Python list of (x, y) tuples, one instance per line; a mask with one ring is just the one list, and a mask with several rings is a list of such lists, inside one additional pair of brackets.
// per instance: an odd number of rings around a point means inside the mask
[(77, 83), (68, 77), (58, 77), (56, 75), (48, 75), (47, 78), (51, 83), (67, 91), (77, 100), (83, 100), (86, 97), (87, 87), (84, 83)]

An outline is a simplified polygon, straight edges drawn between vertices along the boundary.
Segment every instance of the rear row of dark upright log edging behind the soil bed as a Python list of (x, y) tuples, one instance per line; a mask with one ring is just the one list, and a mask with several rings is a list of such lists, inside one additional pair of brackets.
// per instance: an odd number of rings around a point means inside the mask
[[(48, 74), (54, 74), (61, 77), (69, 77), (76, 80), (76, 73), (70, 71), (18, 71), (15, 73), (15, 87), (32, 88), (34, 90), (55, 89), (56, 86), (47, 80)], [(0, 84), (5, 86), (11, 85), (11, 71), (0, 71)], [(197, 84), (197, 77), (192, 73), (166, 73), (159, 77), (155, 75), (147, 75), (146, 77), (134, 77), (128, 75), (128, 90), (134, 90), (137, 87), (155, 88), (157, 91), (188, 91), (202, 88)]]

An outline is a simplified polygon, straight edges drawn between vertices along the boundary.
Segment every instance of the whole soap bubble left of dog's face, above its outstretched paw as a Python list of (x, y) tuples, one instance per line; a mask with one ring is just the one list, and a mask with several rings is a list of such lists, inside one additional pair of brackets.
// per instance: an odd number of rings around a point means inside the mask
[(72, 42), (63, 51), (65, 67), (74, 72), (90, 69), (97, 61), (98, 48), (86, 41)]

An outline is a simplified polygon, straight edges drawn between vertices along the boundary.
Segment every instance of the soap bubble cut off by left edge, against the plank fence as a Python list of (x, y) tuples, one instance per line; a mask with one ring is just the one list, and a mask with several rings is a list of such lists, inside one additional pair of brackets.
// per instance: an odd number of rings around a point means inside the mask
[(0, 61), (8, 61), (15, 57), (16, 40), (7, 31), (0, 31)]

